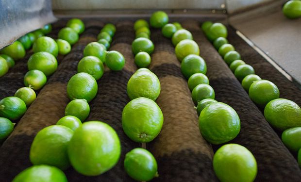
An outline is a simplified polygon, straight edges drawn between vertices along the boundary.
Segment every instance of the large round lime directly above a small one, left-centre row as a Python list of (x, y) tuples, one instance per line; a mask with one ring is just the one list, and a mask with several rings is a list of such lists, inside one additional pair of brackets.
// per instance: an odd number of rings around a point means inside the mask
[(69, 99), (86, 99), (87, 102), (95, 98), (98, 90), (96, 80), (88, 73), (77, 73), (67, 84)]

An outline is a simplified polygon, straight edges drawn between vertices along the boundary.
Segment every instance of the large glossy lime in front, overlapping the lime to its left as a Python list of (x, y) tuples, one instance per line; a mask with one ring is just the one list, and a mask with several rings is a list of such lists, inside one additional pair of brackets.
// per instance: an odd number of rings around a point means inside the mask
[(110, 170), (117, 164), (120, 153), (117, 133), (100, 121), (88, 121), (76, 129), (68, 146), (71, 165), (86, 176)]

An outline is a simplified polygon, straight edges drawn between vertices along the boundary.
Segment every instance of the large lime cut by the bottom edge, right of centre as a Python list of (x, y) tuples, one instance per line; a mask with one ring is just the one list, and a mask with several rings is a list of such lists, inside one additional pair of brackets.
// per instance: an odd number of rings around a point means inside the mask
[(253, 154), (238, 144), (226, 144), (213, 157), (213, 168), (220, 182), (253, 182), (257, 162)]

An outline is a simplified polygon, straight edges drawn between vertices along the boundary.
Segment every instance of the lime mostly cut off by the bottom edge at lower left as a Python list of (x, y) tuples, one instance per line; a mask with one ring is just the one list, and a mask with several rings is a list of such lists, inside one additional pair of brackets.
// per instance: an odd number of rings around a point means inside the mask
[(20, 172), (13, 182), (68, 182), (63, 171), (50, 165), (33, 165)]

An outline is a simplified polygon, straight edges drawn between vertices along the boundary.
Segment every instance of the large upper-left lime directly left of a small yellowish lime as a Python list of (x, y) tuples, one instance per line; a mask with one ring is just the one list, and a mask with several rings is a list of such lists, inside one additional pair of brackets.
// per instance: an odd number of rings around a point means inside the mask
[(33, 52), (49, 52), (53, 56), (57, 56), (59, 48), (55, 40), (50, 37), (39, 37), (33, 44)]

